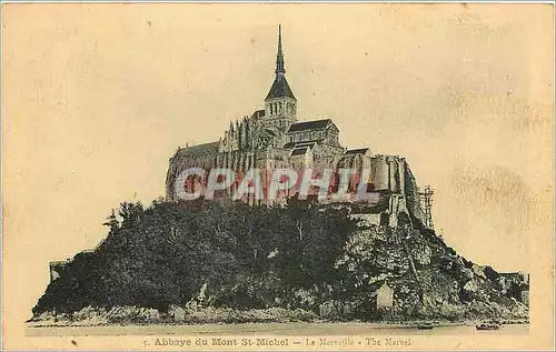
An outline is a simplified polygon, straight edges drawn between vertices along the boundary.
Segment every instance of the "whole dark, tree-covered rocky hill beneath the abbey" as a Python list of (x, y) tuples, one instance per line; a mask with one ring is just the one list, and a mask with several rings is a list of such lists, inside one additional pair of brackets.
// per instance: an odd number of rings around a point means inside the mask
[(390, 227), (341, 208), (244, 203), (121, 212), (97, 250), (57, 271), (34, 319), (212, 322), (224, 312), (207, 309), (231, 310), (227, 321), (249, 309), (328, 320), (528, 318), (528, 275), (475, 264), (408, 219)]

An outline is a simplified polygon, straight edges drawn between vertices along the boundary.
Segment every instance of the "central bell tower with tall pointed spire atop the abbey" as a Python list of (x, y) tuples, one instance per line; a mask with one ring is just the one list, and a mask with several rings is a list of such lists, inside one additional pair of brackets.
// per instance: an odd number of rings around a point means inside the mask
[(297, 121), (297, 99), (286, 80), (281, 26), (278, 27), (278, 54), (276, 56), (276, 78), (265, 99), (265, 127), (287, 131)]

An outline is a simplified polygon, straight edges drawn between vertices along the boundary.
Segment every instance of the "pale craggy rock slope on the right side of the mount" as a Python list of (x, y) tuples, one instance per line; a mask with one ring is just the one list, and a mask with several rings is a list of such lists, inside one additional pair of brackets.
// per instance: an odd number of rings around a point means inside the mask
[[(357, 264), (356, 264), (357, 263)], [(371, 291), (369, 278), (394, 288), (394, 308), (383, 319), (526, 319), (528, 284), (456, 254), (430, 230), (365, 227), (346, 245), (345, 265)], [(365, 269), (363, 269), (365, 268)], [(373, 281), (373, 280), (370, 280)]]

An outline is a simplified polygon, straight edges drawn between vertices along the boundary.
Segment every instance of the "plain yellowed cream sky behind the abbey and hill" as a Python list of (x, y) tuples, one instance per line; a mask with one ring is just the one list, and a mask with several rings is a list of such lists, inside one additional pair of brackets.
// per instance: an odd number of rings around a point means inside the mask
[(4, 4), (4, 314), (28, 319), (49, 261), (95, 248), (120, 202), (163, 195), (178, 147), (264, 107), (279, 23), (300, 121), (405, 157), (461, 255), (553, 273), (553, 21), (547, 4)]

